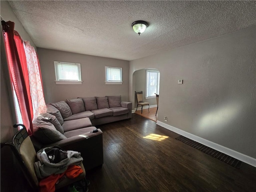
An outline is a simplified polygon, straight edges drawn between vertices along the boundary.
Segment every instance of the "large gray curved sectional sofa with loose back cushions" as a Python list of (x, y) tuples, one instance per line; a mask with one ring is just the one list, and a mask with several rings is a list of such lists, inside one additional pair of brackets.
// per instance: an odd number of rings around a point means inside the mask
[(76, 98), (47, 104), (47, 112), (33, 122), (36, 148), (60, 146), (81, 152), (86, 170), (103, 164), (102, 131), (97, 125), (132, 117), (132, 103), (121, 96)]

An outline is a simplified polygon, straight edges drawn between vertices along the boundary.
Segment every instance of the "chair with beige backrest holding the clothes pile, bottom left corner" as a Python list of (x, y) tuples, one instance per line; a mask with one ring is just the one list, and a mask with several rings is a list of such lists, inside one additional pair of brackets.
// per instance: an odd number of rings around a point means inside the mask
[[(34, 170), (36, 151), (30, 140), (30, 137), (28, 136), (26, 127), (22, 124), (14, 125), (14, 127), (16, 128), (18, 126), (22, 126), (23, 128), (14, 135), (12, 142), (1, 143), (1, 148), (3, 146), (10, 146), (18, 160), (18, 163), (21, 166), (22, 172), (24, 173), (26, 180), (28, 180), (28, 183), (30, 184), (32, 191), (39, 191), (39, 180)], [(84, 166), (82, 163), (80, 163), (79, 166), (81, 166), (83, 173), (81, 173), (77, 178), (74, 179), (70, 179), (67, 177), (64, 178), (55, 185), (55, 189), (57, 190), (65, 186), (69, 186), (70, 184), (78, 181), (86, 182)], [(84, 189), (84, 191), (86, 191), (86, 189)]]

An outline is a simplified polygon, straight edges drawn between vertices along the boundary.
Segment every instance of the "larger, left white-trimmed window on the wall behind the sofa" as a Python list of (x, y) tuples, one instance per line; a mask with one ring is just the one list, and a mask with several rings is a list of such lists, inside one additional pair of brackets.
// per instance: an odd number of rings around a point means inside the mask
[(82, 84), (81, 64), (54, 61), (56, 84)]

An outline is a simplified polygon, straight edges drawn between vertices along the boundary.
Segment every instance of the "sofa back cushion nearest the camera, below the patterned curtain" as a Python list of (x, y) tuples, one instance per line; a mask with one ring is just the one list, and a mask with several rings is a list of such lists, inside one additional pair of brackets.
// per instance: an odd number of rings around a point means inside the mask
[(33, 122), (33, 136), (38, 139), (42, 144), (51, 144), (62, 139), (66, 136), (61, 134), (53, 124), (37, 119)]

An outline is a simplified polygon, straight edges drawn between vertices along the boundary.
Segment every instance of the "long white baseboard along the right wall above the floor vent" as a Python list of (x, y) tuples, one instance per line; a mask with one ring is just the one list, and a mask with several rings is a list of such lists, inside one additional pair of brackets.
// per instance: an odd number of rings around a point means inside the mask
[(180, 130), (180, 129), (176, 128), (176, 127), (170, 126), (170, 125), (165, 124), (165, 123), (163, 123), (161, 121), (156, 121), (156, 124), (161, 126), (161, 127), (163, 127), (163, 128), (166, 128), (166, 129), (168, 129), (170, 131), (178, 133), (178, 134), (180, 134), (180, 135), (182, 135), (184, 137), (190, 138), (190, 139), (192, 139), (192, 140), (194, 140), (194, 141), (196, 141), (198, 143), (204, 144), (205, 146), (213, 148), (213, 149), (215, 149), (215, 150), (217, 150), (219, 152), (222, 152), (222, 153), (227, 154), (227, 155), (229, 155), (231, 157), (234, 157), (234, 158), (236, 158), (236, 159), (238, 159), (238, 160), (240, 160), (242, 162), (245, 162), (245, 163), (247, 163), (247, 164), (249, 164), (251, 166), (256, 167), (256, 159), (254, 159), (254, 158), (252, 158), (250, 156), (247, 156), (247, 155), (242, 154), (240, 152), (237, 152), (237, 151), (234, 151), (232, 149), (226, 148), (226, 147), (221, 146), (219, 144), (216, 144), (214, 142), (208, 141), (208, 140), (206, 140), (204, 138), (198, 137), (198, 136), (193, 135), (191, 133), (188, 133), (186, 131)]

